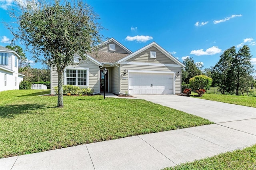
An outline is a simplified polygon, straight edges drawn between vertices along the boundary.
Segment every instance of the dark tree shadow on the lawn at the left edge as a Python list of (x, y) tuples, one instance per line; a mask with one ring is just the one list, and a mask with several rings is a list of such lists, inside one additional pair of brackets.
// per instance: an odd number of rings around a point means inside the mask
[[(34, 114), (33, 110), (46, 109), (54, 107), (45, 107), (45, 105), (25, 104), (25, 105), (5, 105), (0, 106), (0, 117), (13, 118), (20, 114)], [(40, 114), (44, 114), (40, 112)]]

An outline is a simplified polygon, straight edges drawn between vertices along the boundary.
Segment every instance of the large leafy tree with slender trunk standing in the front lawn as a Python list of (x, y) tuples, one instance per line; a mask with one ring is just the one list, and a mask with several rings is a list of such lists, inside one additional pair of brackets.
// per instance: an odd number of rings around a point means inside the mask
[(18, 30), (10, 30), (14, 37), (21, 40), (33, 57), (43, 57), (44, 62), (58, 73), (58, 107), (63, 107), (63, 72), (73, 64), (74, 54), (86, 59), (86, 53), (102, 42), (98, 16), (88, 4), (81, 0), (41, 1), (34, 4), (31, 0), (26, 7), (20, 6), (21, 14), (16, 18)]

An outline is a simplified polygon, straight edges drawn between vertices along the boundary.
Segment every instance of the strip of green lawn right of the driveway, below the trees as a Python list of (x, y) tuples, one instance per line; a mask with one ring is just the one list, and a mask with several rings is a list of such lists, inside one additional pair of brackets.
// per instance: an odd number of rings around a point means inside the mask
[[(191, 97), (196, 97), (197, 93), (192, 93)], [(220, 101), (224, 103), (231, 103), (235, 105), (256, 107), (256, 97), (252, 96), (236, 96), (236, 95), (221, 95), (221, 94), (204, 94), (200, 99)]]

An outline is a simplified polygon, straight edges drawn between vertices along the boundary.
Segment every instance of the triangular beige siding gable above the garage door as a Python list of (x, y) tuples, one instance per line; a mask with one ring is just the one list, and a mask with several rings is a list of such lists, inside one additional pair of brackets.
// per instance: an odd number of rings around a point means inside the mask
[[(150, 58), (150, 51), (156, 51), (156, 58)], [(142, 51), (138, 55), (128, 59), (127, 61), (142, 62), (142, 63), (161, 63), (161, 64), (176, 64), (169, 57), (160, 52), (156, 47), (150, 47)]]

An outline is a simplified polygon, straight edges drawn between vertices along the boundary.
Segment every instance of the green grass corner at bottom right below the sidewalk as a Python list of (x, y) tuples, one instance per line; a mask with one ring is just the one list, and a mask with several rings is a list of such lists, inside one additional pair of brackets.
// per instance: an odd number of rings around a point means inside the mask
[(255, 170), (256, 145), (222, 153), (210, 158), (186, 162), (164, 170)]

